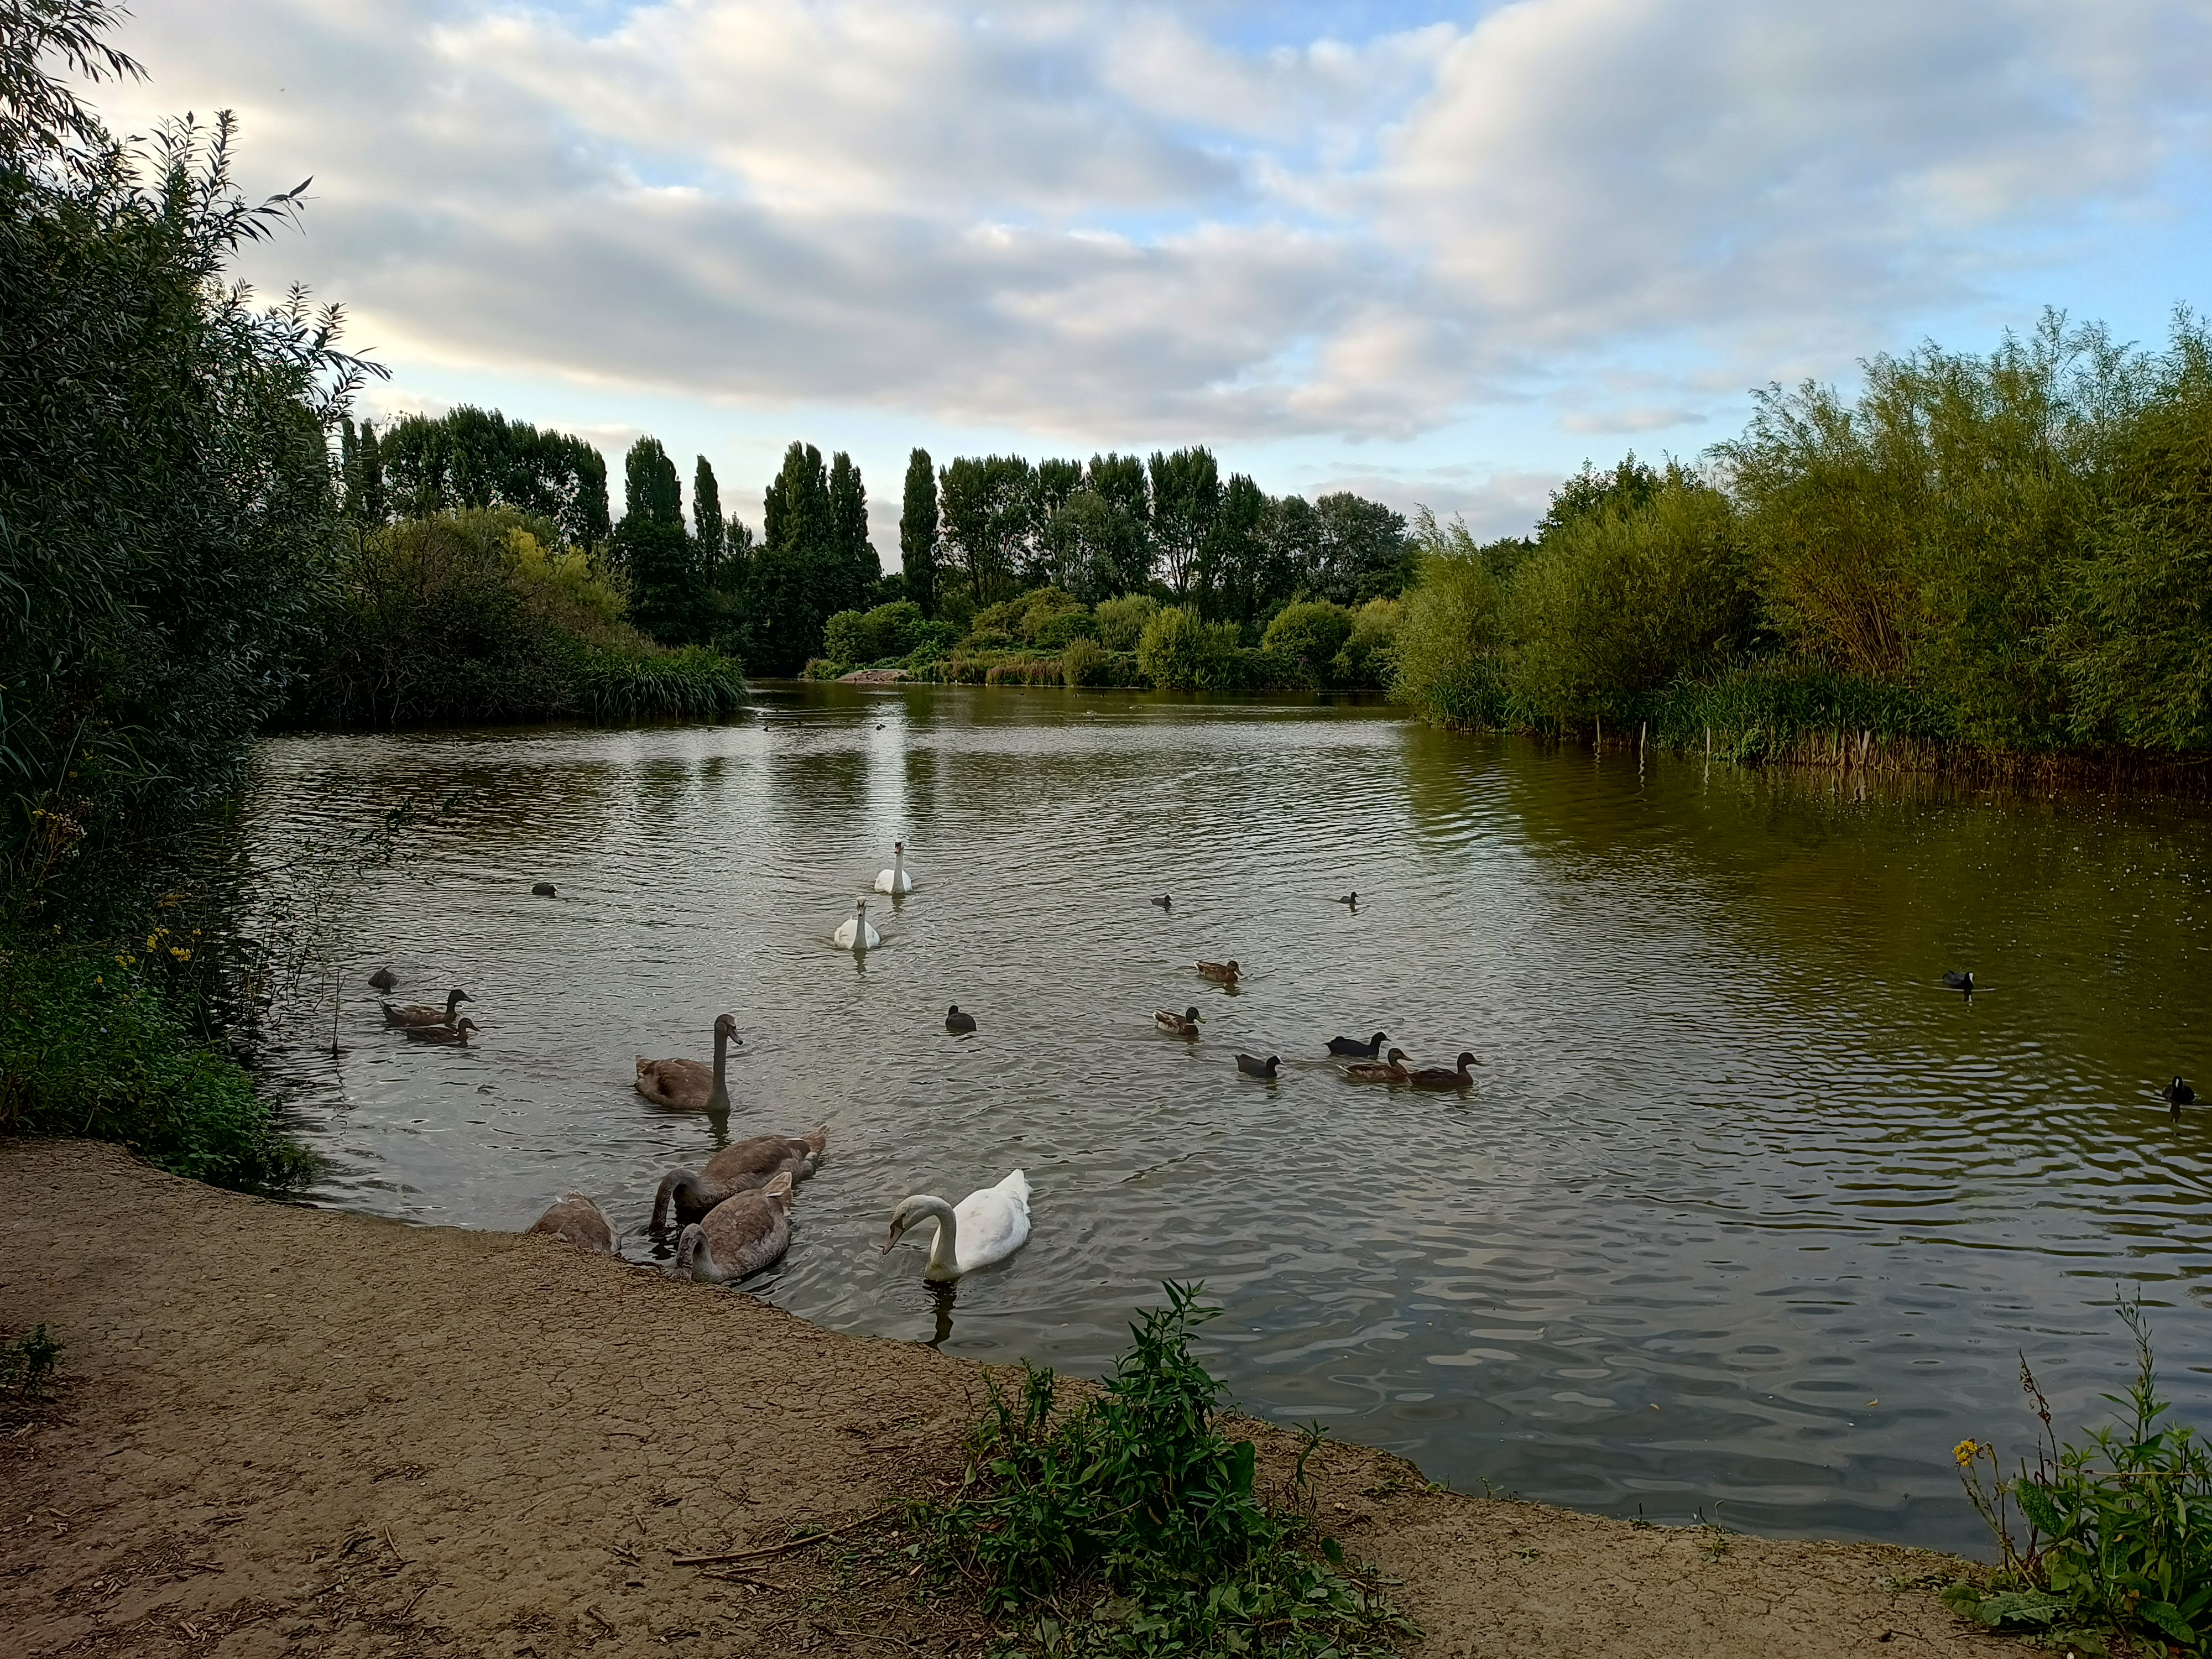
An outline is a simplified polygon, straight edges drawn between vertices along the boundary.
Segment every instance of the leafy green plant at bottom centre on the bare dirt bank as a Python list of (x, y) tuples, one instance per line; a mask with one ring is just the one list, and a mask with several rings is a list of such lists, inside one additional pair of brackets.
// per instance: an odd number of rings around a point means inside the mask
[(960, 1493), (916, 1504), (916, 1524), (1031, 1652), (1387, 1655), (1416, 1630), (1314, 1526), (1318, 1431), (1285, 1502), (1267, 1502), (1254, 1444), (1221, 1433), (1223, 1387), (1190, 1352), (1221, 1310), (1199, 1285), (1164, 1290), (1079, 1405), (1055, 1398), (1053, 1371), (1024, 1365), (1018, 1396), (993, 1380)]

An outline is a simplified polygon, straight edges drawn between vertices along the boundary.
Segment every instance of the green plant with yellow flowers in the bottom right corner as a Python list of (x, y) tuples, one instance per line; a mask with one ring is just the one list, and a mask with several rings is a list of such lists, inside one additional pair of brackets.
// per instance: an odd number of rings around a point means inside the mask
[(2212, 1455), (2159, 1398), (2143, 1305), (2119, 1301), (2135, 1338), (2135, 1383), (2104, 1396), (2115, 1425), (2059, 1444), (2028, 1363), (2020, 1385), (2042, 1422), (2035, 1467), (2006, 1480), (1995, 1447), (1962, 1440), (1960, 1480), (1997, 1540), (1986, 1586), (1955, 1584), (1944, 1601), (1989, 1626), (2115, 1630), (2183, 1652), (2212, 1648)]

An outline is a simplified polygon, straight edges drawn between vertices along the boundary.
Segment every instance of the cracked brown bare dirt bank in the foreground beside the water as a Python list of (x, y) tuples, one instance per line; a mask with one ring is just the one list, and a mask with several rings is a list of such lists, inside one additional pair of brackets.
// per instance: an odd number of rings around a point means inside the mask
[[(929, 1491), (982, 1400), (971, 1363), (82, 1141), (0, 1141), (0, 1325), (66, 1343), (58, 1405), (0, 1440), (9, 1652), (982, 1652), (973, 1608), (911, 1599), (887, 1524), (672, 1562)], [(1889, 1588), (1940, 1557), (1714, 1553), (1425, 1493), (1356, 1449), (1321, 1475), (1323, 1520), (1405, 1579), (1420, 1657), (2020, 1652)]]

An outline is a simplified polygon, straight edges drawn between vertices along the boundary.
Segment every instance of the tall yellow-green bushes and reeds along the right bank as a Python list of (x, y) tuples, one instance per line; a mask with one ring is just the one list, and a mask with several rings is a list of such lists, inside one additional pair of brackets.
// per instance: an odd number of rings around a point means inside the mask
[(1586, 467), (1533, 538), (1420, 520), (1398, 695), (1736, 759), (2212, 752), (2205, 325), (1865, 369), (1767, 389), (1705, 467)]

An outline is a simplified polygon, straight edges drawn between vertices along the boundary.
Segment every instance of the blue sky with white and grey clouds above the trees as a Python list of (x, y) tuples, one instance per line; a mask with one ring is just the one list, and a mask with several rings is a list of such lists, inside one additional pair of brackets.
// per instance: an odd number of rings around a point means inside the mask
[(111, 126), (312, 175), (263, 290), (392, 378), (703, 453), (759, 529), (847, 449), (1203, 442), (1270, 493), (1526, 531), (2046, 305), (2157, 345), (2212, 270), (2212, 0), (137, 0)]

